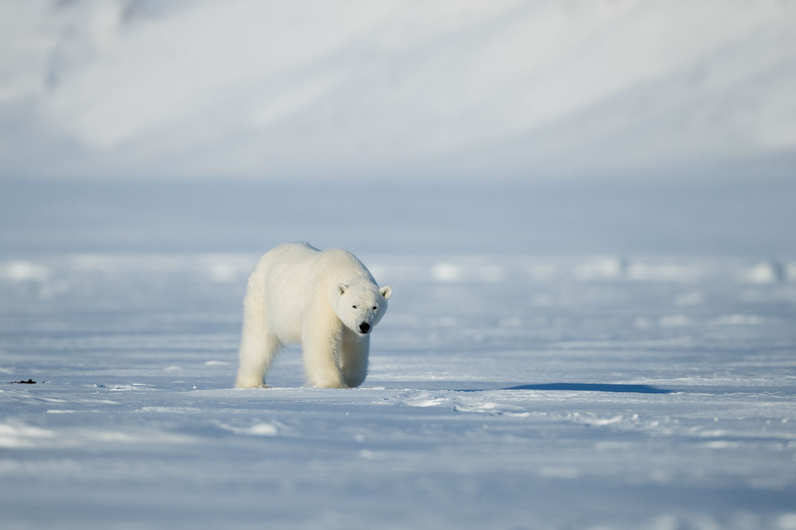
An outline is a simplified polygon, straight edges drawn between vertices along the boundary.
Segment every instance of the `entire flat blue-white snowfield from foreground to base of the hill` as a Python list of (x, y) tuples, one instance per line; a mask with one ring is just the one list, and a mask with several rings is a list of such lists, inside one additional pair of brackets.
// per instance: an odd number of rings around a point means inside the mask
[[(794, 196), (3, 182), (0, 526), (792, 530)], [(369, 377), (232, 389), (297, 239), (392, 286)]]

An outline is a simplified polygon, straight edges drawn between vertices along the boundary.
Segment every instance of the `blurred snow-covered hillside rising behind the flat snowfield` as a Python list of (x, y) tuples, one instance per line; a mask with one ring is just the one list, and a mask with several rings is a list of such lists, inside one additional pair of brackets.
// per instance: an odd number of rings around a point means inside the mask
[(796, 2), (0, 3), (0, 177), (794, 167)]

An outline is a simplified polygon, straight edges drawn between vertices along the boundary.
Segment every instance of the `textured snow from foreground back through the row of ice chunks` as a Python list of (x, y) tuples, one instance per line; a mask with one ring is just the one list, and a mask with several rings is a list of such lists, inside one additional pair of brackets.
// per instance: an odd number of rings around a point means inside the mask
[(0, 262), (4, 528), (796, 528), (796, 278), (361, 255), (359, 389), (232, 389), (256, 254)]

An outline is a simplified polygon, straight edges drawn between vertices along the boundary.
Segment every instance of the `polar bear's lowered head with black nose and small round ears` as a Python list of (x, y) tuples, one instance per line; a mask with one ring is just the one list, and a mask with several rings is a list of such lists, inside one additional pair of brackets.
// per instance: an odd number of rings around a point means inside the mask
[(368, 335), (387, 311), (392, 288), (379, 288), (367, 280), (337, 284), (330, 296), (334, 314), (357, 335)]

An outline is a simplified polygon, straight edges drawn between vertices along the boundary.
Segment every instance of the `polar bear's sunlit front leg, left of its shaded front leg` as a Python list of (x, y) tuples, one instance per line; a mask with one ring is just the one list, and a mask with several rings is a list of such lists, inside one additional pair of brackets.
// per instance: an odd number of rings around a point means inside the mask
[[(312, 322), (312, 319), (309, 319)], [(302, 350), (306, 385), (320, 389), (347, 389), (338, 368), (340, 331), (338, 329), (306, 325), (302, 332)]]

